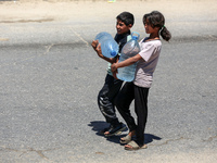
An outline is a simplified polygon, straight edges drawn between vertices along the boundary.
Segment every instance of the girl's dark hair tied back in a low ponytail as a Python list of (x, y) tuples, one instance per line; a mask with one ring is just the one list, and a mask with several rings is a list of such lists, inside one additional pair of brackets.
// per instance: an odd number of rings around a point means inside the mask
[(171, 38), (171, 34), (165, 27), (165, 18), (164, 15), (158, 11), (152, 11), (151, 13), (144, 14), (143, 16), (143, 24), (145, 24), (146, 20), (149, 20), (151, 26), (159, 27), (159, 34), (163, 39), (168, 41)]

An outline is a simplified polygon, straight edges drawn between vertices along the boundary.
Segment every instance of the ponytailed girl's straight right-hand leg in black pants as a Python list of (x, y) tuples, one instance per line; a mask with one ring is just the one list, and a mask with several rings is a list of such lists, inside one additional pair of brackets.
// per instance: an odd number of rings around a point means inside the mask
[(149, 88), (135, 86), (135, 112), (138, 117), (136, 130), (137, 143), (141, 147), (144, 143), (144, 129), (148, 117)]

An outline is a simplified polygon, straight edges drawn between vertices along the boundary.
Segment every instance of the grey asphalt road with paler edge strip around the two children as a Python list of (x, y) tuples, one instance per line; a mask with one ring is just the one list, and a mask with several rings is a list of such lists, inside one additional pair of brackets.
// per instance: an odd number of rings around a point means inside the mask
[[(0, 162), (217, 162), (217, 20), (168, 20), (173, 39), (163, 41), (149, 96), (149, 148), (136, 152), (119, 136), (98, 135), (107, 125), (97, 105), (106, 62), (90, 42), (115, 34), (115, 20), (101, 21), (0, 25)], [(145, 35), (142, 25), (133, 30)]]

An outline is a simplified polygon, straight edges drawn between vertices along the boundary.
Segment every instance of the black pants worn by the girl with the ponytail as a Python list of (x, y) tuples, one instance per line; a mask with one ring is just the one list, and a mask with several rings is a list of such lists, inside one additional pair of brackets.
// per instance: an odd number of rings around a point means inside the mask
[[(115, 99), (115, 105), (127, 123), (129, 130), (136, 130), (136, 142), (140, 147), (144, 145), (144, 129), (148, 118), (148, 96), (149, 88), (138, 87), (133, 85), (133, 83), (126, 83)], [(137, 125), (129, 110), (133, 99)]]

